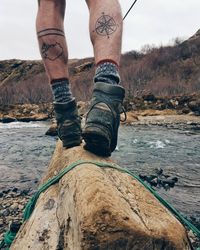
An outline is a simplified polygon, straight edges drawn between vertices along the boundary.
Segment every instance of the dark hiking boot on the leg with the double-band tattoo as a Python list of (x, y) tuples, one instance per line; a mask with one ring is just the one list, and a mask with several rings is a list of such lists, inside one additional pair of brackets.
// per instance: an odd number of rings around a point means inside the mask
[(71, 148), (81, 143), (81, 120), (78, 116), (75, 99), (67, 103), (54, 102), (58, 125), (58, 136), (63, 147)]

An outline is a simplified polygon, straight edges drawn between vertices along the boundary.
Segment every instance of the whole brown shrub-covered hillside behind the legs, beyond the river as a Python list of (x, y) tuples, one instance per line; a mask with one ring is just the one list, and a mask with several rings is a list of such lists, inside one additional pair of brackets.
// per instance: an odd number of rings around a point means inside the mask
[[(121, 77), (127, 99), (149, 92), (174, 96), (200, 91), (200, 30), (173, 46), (146, 46), (122, 55)], [(88, 100), (94, 74), (93, 58), (69, 61), (72, 90), (77, 100)], [(0, 61), (0, 104), (51, 101), (41, 61)]]

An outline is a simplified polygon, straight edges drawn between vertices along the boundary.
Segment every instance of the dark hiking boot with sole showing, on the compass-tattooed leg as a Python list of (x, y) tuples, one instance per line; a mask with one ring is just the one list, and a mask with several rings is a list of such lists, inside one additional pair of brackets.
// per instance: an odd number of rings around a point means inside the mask
[(119, 85), (95, 83), (82, 133), (86, 150), (100, 156), (110, 156), (115, 150), (124, 95)]

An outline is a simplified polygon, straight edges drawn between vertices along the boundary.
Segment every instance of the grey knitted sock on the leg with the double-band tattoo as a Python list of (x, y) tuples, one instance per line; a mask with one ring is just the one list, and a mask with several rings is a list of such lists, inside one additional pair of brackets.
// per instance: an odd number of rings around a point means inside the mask
[(66, 78), (52, 80), (51, 90), (54, 102), (66, 103), (74, 99), (70, 89), (69, 80)]

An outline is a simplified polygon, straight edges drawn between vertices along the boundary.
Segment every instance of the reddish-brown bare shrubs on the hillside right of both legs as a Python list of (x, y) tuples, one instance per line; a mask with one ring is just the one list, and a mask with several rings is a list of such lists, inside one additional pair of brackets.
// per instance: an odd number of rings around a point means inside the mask
[(175, 42), (175, 46), (146, 45), (139, 59), (128, 53), (123, 56), (121, 76), (127, 98), (145, 92), (173, 96), (200, 91), (199, 43)]

